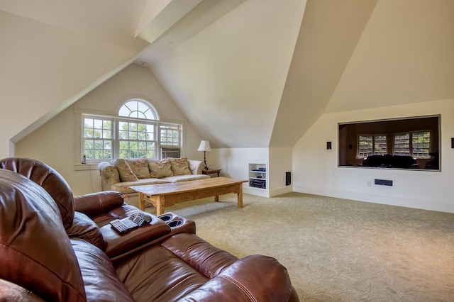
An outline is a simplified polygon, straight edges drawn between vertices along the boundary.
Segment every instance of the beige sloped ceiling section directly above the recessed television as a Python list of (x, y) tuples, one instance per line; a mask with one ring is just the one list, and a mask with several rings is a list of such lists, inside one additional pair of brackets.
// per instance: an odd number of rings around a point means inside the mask
[(378, 1), (325, 111), (453, 96), (454, 1)]

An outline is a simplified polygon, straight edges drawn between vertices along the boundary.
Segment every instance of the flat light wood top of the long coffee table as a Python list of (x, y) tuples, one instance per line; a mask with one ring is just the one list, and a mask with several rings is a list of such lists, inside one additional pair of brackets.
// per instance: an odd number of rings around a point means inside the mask
[(214, 177), (209, 179), (199, 179), (191, 181), (179, 181), (169, 184), (144, 184), (142, 186), (130, 186), (131, 189), (139, 193), (153, 195), (173, 194), (190, 191), (198, 191), (200, 189), (211, 189), (231, 184), (241, 184), (248, 182), (247, 180), (237, 180), (227, 177)]

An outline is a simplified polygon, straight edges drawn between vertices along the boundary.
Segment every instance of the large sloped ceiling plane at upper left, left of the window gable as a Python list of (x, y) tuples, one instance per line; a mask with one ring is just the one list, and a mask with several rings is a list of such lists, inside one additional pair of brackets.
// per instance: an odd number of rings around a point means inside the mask
[(0, 41), (0, 158), (13, 155), (16, 135), (137, 53), (4, 11)]

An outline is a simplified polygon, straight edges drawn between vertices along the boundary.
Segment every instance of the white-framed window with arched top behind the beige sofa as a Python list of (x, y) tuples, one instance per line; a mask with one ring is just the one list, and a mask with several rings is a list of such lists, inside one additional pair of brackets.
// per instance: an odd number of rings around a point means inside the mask
[(121, 104), (117, 116), (82, 114), (82, 162), (179, 157), (182, 125), (159, 120), (155, 107), (138, 98)]

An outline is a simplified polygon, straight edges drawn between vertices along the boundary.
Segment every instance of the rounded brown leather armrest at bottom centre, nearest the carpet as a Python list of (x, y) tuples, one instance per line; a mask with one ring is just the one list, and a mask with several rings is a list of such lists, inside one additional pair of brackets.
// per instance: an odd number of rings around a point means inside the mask
[(276, 259), (251, 255), (179, 301), (299, 301), (287, 269)]

